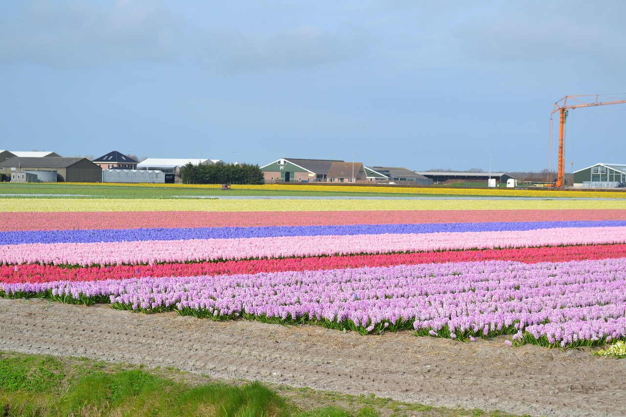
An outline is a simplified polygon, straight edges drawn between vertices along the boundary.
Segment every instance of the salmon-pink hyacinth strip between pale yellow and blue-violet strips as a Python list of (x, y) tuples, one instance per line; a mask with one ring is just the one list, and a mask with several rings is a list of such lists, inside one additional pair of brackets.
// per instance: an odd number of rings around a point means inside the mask
[(626, 210), (420, 210), (337, 212), (44, 212), (0, 217), (14, 230), (139, 229), (152, 227), (324, 226), (626, 220)]

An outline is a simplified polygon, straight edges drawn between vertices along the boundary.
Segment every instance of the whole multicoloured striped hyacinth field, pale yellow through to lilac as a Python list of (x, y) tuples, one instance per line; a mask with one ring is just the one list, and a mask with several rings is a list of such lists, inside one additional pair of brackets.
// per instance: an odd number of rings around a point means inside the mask
[(4, 198), (0, 295), (361, 334), (626, 339), (626, 200)]

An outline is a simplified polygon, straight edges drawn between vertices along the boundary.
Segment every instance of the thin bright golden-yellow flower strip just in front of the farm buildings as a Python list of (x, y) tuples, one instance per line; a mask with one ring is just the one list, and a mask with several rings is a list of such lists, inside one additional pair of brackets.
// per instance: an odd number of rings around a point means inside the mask
[[(220, 184), (150, 184), (150, 183), (59, 183), (63, 185), (89, 185), (90, 187), (158, 187), (158, 188), (221, 188)], [(295, 191), (295, 192), (341, 192), (341, 193), (393, 193), (418, 195), (465, 195), (476, 197), (543, 197), (543, 198), (626, 198), (623, 191), (553, 190), (551, 188), (448, 188), (448, 187), (390, 187), (387, 185), (315, 185), (315, 184), (264, 184), (237, 185), (233, 190)]]

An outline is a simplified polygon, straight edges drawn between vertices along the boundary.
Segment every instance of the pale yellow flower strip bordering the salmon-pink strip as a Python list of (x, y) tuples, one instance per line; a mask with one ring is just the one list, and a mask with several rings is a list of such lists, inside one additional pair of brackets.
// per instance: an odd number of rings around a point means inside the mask
[[(0, 212), (323, 212), (338, 210), (568, 210), (622, 209), (626, 200), (282, 200), (6, 198)], [(10, 221), (10, 218), (7, 218)], [(489, 219), (485, 219), (486, 222)]]

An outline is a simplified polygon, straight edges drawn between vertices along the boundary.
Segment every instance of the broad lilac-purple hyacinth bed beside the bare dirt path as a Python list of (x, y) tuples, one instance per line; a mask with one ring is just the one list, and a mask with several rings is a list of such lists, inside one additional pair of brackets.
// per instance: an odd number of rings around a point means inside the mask
[(307, 317), (367, 331), (398, 322), (436, 335), (515, 332), (562, 346), (626, 337), (626, 259), (489, 261), (255, 275), (0, 284), (6, 293), (110, 296), (133, 309)]

